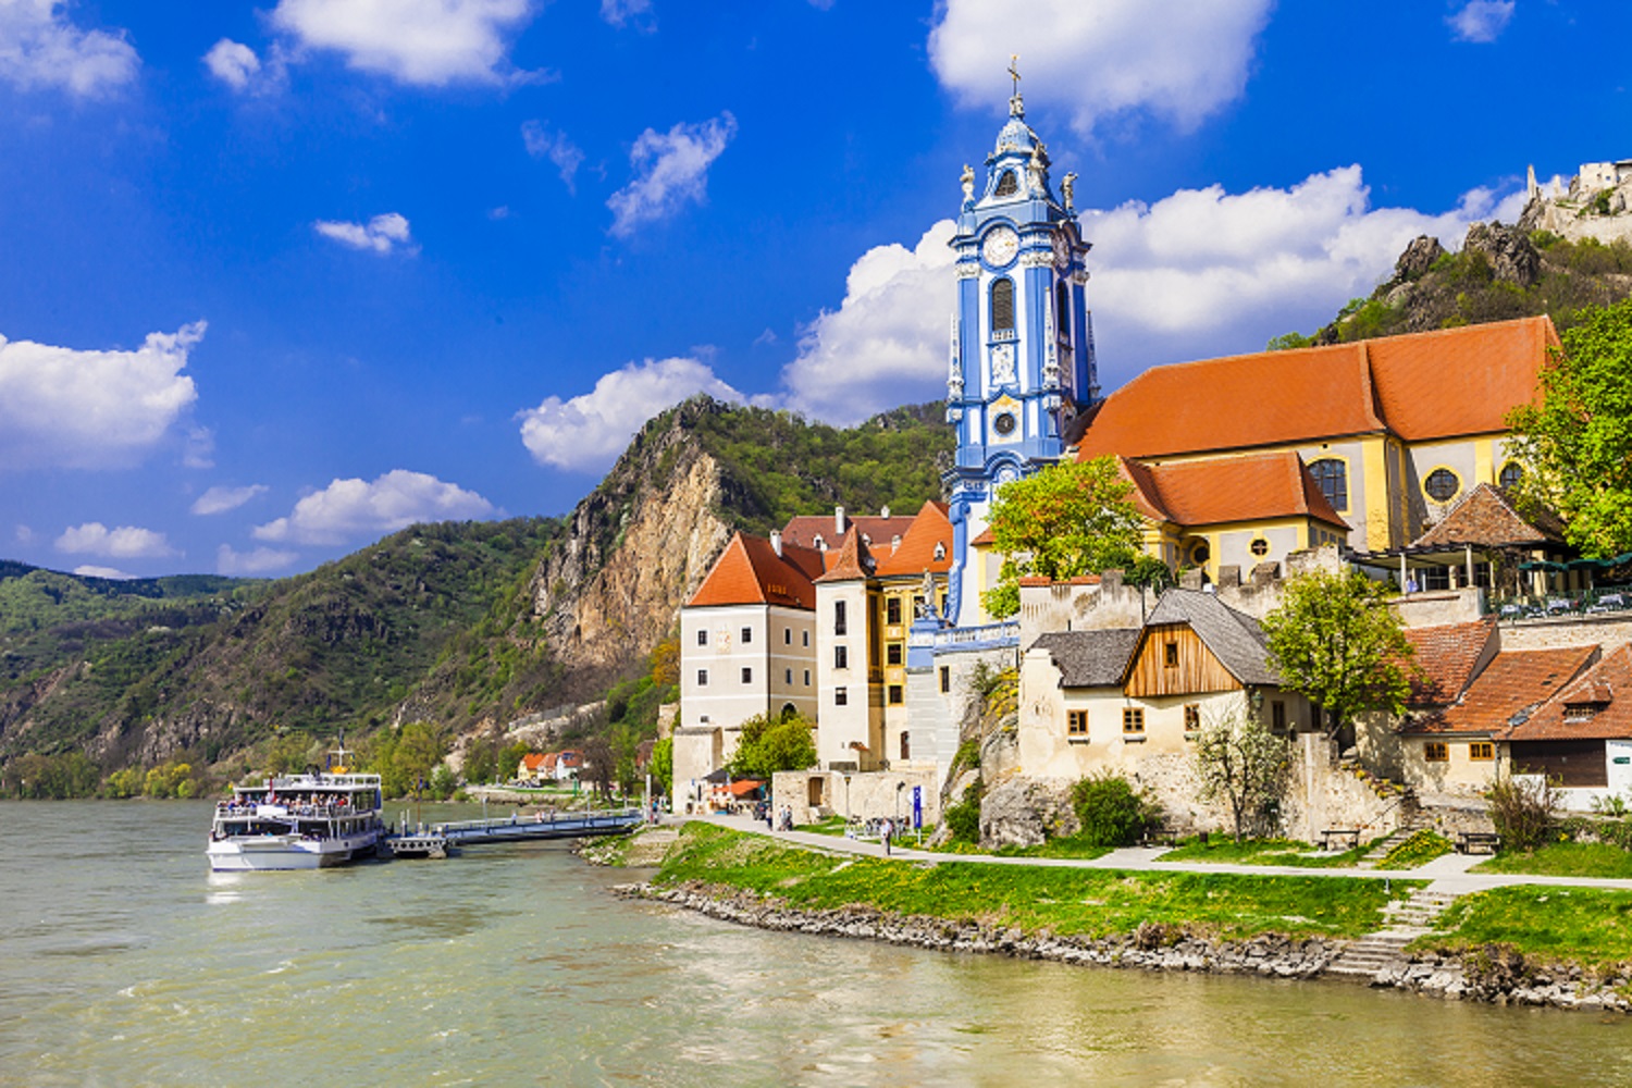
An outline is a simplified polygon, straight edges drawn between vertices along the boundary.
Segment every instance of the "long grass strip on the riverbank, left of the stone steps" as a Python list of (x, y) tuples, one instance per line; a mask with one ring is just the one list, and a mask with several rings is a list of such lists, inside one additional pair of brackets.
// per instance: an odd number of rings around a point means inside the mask
[[(702, 881), (823, 910), (865, 904), (904, 915), (989, 922), (1061, 935), (1126, 933), (1141, 922), (1219, 936), (1353, 938), (1381, 927), (1381, 881), (1231, 873), (1126, 873), (971, 861), (885, 861), (801, 850), (710, 824), (685, 824), (658, 884)], [(1395, 894), (1415, 882), (1395, 881)]]

